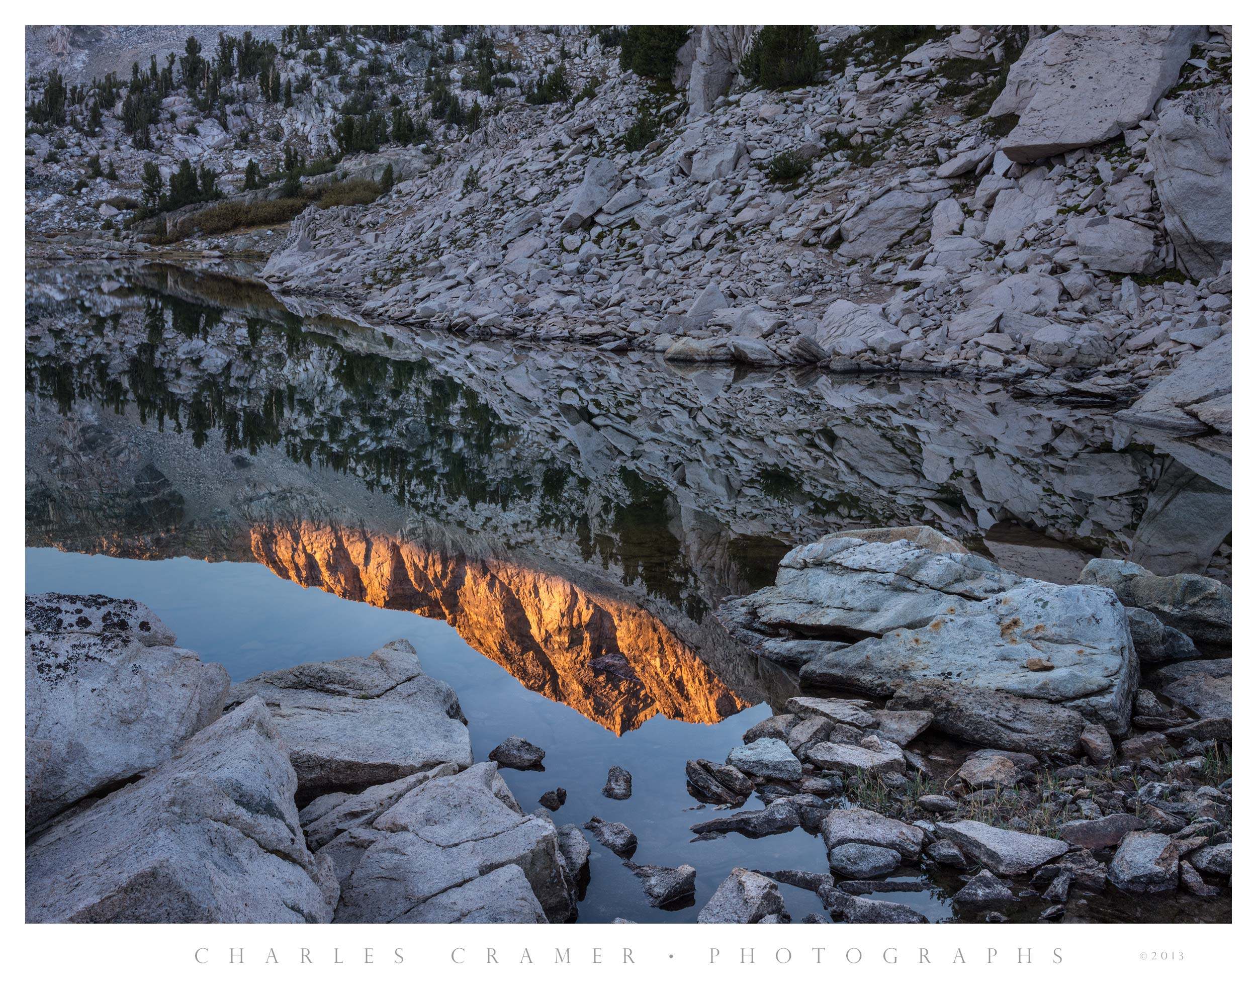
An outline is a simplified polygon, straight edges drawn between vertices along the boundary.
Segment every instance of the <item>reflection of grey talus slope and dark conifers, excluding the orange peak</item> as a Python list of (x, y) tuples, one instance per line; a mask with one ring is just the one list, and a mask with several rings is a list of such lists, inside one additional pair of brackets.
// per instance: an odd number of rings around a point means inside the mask
[[(1131, 435), (1106, 411), (992, 382), (402, 338), (177, 269), (99, 278), (29, 275), (38, 393), (129, 400), (200, 442), (220, 430), (233, 450), (282, 446), (546, 555), (557, 538), (695, 616), (752, 577), (757, 540), (865, 524), (924, 523), (975, 544), (1016, 523), (1160, 572), (1229, 566), (1226, 437)], [(1159, 451), (1192, 466), (1185, 480)], [(661, 532), (675, 538), (666, 550)]]

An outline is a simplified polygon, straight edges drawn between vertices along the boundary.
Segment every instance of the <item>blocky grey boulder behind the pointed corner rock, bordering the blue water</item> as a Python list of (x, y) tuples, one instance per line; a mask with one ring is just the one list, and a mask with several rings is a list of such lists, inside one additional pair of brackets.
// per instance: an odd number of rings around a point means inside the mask
[(405, 640), (366, 658), (261, 674), (233, 685), (229, 704), (251, 696), (270, 709), (303, 790), (368, 787), (441, 763), (471, 764), (458, 695), (424, 675)]

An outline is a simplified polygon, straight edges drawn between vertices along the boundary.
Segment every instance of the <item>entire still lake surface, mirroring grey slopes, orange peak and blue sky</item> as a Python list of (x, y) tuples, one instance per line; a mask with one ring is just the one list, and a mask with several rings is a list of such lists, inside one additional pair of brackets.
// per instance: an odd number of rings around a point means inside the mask
[[(142, 601), (233, 680), (409, 638), (478, 759), (513, 734), (546, 749), (544, 773), (503, 770), (525, 811), (564, 787), (556, 823), (621, 821), (635, 861), (698, 870), (694, 902), (652, 909), (595, 842), (581, 921), (693, 921), (735, 866), (826, 871), (802, 828), (689, 831), (728, 811), (685, 762), (723, 762), (798, 692), (713, 616), (791, 545), (929, 524), (1045, 579), (1101, 554), (1229, 577), (1229, 451), (1056, 391), (669, 366), (395, 333), (173, 268), (33, 269), (26, 586)], [(611, 765), (631, 799), (602, 795)], [(954, 916), (958, 873), (900, 875), (925, 891), (876, 896)], [(1070, 916), (1219, 910), (1110, 892)]]

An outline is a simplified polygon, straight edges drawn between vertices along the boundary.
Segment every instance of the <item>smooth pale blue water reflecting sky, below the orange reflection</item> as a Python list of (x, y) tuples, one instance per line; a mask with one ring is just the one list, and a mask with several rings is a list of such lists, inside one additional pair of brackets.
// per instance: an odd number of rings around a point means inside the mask
[[(686, 759), (724, 762), (742, 734), (772, 714), (767, 704), (716, 725), (656, 715), (617, 738), (571, 708), (524, 689), (445, 622), (304, 588), (258, 563), (134, 560), (28, 549), (26, 592), (49, 591), (142, 601), (178, 636), (178, 645), (206, 662), (221, 662), (233, 680), (299, 662), (365, 655), (393, 638), (409, 638), (425, 672), (458, 691), (476, 759), (488, 758), (508, 735), (523, 735), (546, 749), (544, 773), (502, 770), (525, 811), (546, 790), (563, 787), (567, 803), (552, 814), (556, 823), (583, 824), (595, 814), (621, 821), (637, 834), (634, 861), (686, 862), (698, 870), (695, 902), (675, 911), (657, 910), (649, 906), (641, 883), (620, 858), (591, 841), (591, 880), (579, 906), (581, 921), (606, 922), (617, 916), (640, 922), (693, 921), (737, 866), (827, 871), (823, 842), (802, 828), (767, 838), (727, 834), (690, 842), (690, 824), (722, 812), (698, 806), (686, 792)], [(602, 795), (612, 765), (632, 773), (634, 794), (627, 800)], [(758, 807), (759, 800), (752, 798), (747, 806)], [(823, 912), (811, 892), (786, 885), (781, 891), (794, 917)], [(885, 899), (903, 900), (935, 920), (950, 916), (947, 904), (929, 893)]]

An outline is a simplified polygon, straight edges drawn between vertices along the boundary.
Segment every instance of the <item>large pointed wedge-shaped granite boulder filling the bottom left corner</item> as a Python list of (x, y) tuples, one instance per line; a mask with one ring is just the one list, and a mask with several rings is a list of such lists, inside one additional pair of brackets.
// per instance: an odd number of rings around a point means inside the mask
[(260, 700), (26, 848), (26, 920), (327, 922), (331, 863), (305, 848), (297, 774)]

